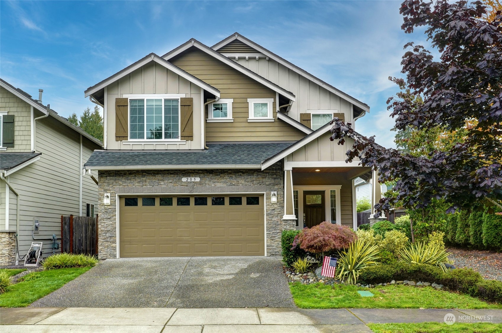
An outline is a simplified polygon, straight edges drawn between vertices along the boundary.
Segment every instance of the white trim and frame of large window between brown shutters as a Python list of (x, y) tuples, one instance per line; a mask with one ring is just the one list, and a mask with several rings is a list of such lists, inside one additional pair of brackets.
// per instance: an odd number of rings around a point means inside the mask
[[(153, 95), (146, 95), (146, 94), (132, 94), (132, 95), (123, 95), (124, 98), (128, 96), (128, 140), (122, 141), (122, 144), (124, 143), (149, 143), (149, 142), (156, 142), (156, 143), (162, 143), (162, 142), (169, 142), (169, 143), (181, 143), (181, 142), (186, 142), (185, 140), (181, 139), (131, 139), (131, 100), (145, 100), (145, 138), (147, 137), (147, 99), (162, 99), (162, 136), (165, 135), (164, 133), (164, 100), (178, 100), (178, 136), (181, 137), (181, 102), (180, 98), (185, 97), (185, 94), (153, 94)], [(132, 96), (132, 97), (131, 97)], [(144, 97), (143, 97), (144, 96)]]

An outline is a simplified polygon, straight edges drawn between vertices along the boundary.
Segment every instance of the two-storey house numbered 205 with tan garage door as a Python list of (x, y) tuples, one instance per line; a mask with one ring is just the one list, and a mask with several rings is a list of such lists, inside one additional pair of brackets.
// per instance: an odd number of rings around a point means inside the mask
[(280, 255), (284, 229), (356, 226), (333, 117), (369, 107), (245, 37), (191, 39), (85, 91), (104, 109), (100, 258)]

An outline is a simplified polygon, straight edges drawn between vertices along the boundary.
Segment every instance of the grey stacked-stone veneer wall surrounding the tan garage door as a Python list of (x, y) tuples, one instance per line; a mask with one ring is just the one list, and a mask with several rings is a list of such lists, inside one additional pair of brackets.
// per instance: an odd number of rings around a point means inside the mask
[[(200, 177), (200, 182), (182, 182)], [(134, 193), (246, 193), (266, 192), (267, 255), (281, 255), (281, 232), (295, 229), (295, 220), (283, 220), (284, 171), (278, 162), (266, 170), (131, 170), (99, 171), (98, 257), (116, 258), (116, 194)], [(277, 191), (277, 203), (270, 192)], [(110, 205), (103, 204), (110, 193)]]

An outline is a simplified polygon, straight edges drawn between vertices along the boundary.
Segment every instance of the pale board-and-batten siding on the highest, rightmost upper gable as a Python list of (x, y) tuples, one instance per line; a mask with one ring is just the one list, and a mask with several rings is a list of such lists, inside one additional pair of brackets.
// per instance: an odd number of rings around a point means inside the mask
[(345, 121), (353, 123), (352, 104), (327, 89), (321, 87), (299, 75), (295, 71), (279, 64), (277, 61), (266, 60), (265, 58), (230, 57), (238, 64), (257, 73), (267, 80), (292, 92), (296, 96), (296, 102), (291, 106), (288, 116), (300, 121), (301, 113), (308, 113), (307, 110), (337, 110), (338, 113), (345, 114)]

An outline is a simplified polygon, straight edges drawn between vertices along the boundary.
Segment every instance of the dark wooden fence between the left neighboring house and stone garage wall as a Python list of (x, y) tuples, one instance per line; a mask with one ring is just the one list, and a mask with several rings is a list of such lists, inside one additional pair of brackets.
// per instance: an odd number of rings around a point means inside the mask
[(61, 215), (61, 252), (97, 255), (97, 219)]

